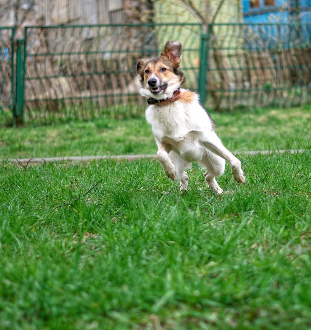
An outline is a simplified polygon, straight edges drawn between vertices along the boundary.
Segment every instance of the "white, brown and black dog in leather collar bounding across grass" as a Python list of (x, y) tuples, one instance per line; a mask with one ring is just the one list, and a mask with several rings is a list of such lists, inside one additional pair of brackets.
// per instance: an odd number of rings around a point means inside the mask
[(186, 168), (193, 161), (206, 169), (208, 185), (219, 195), (223, 189), (216, 177), (225, 171), (225, 161), (231, 166), (233, 179), (245, 183), (241, 162), (226, 149), (214, 131), (214, 122), (199, 101), (199, 95), (181, 88), (185, 76), (179, 69), (182, 46), (168, 41), (160, 56), (140, 59), (136, 71), (140, 75), (140, 95), (147, 98), (145, 117), (151, 124), (164, 173), (180, 182), (180, 191), (187, 190)]

